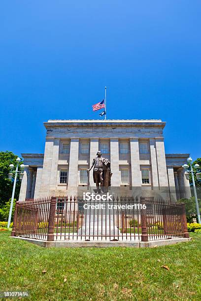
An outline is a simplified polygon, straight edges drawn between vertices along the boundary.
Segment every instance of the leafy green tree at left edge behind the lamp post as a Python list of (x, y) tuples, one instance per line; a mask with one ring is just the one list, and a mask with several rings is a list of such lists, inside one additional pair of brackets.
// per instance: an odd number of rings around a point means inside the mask
[[(17, 166), (17, 155), (12, 151), (0, 151), (0, 208), (2, 208), (6, 202), (12, 196), (13, 181), (8, 179), (9, 165), (13, 164), (14, 169)], [(20, 194), (20, 184), (19, 176), (17, 177), (16, 188), (15, 188), (15, 199), (19, 199)]]

